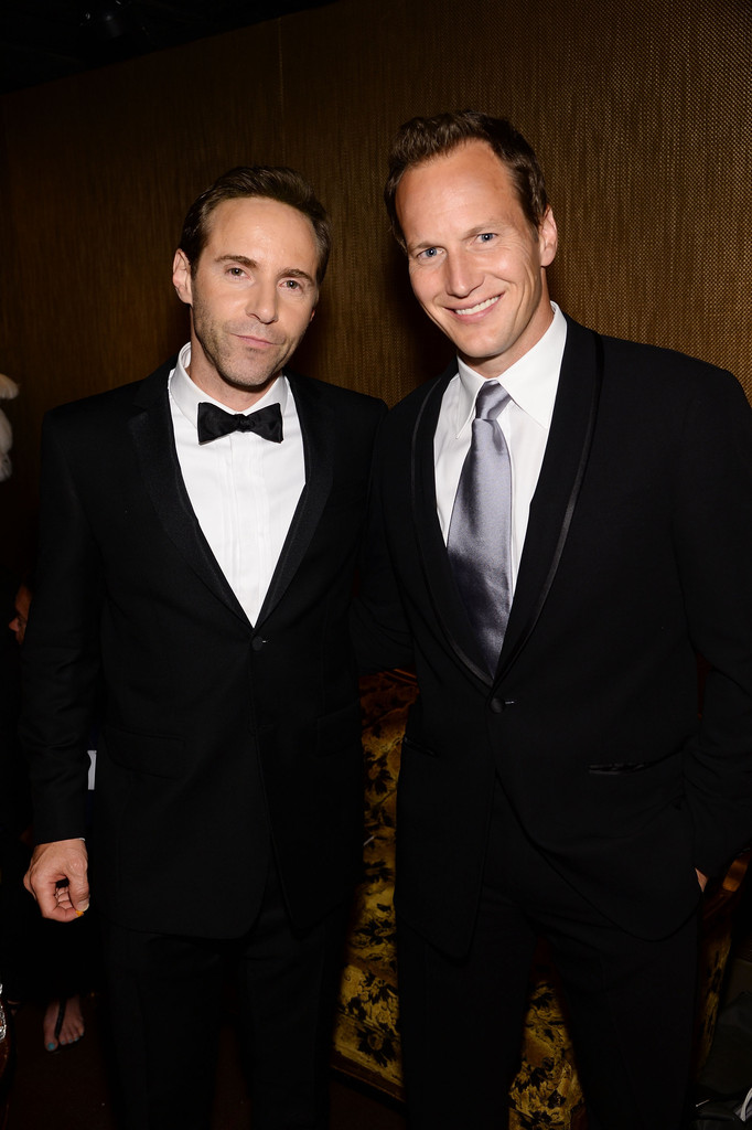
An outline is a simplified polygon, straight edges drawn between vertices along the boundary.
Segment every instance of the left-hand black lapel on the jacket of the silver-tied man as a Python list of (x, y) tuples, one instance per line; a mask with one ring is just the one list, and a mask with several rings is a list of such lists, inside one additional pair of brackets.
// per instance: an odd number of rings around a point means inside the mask
[(434, 437), (444, 392), (456, 372), (456, 362), (453, 362), (430, 388), (416, 419), (411, 453), (412, 515), (434, 615), (461, 662), (490, 686), (491, 677), (483, 664), (478, 642), (457, 591), (436, 512)]

